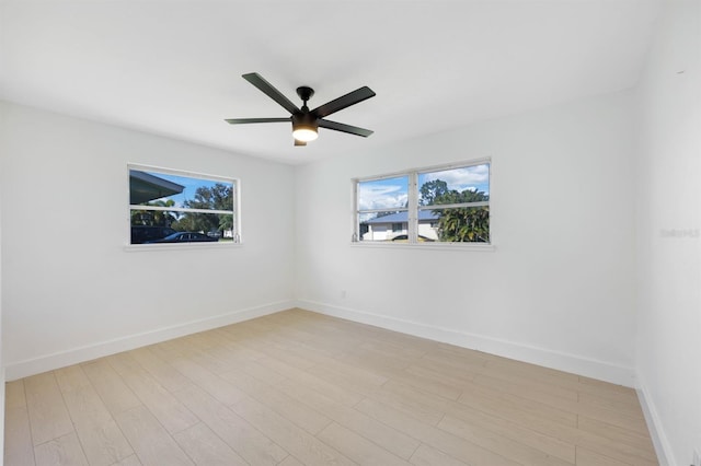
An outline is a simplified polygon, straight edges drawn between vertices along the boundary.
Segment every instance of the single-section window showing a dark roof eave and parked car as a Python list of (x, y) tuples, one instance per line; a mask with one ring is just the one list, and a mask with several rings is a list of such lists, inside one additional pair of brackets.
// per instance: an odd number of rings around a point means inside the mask
[(130, 165), (130, 244), (239, 243), (239, 183)]

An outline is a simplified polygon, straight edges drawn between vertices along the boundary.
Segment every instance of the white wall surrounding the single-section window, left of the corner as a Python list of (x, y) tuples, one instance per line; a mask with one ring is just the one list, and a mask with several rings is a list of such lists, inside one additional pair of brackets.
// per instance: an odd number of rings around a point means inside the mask
[[(294, 170), (2, 104), (9, 380), (292, 302)], [(241, 179), (240, 247), (127, 252), (127, 163)]]

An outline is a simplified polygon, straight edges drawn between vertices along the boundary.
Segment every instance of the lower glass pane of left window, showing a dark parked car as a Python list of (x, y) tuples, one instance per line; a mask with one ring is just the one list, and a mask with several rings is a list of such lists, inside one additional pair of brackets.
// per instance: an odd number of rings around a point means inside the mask
[(233, 214), (134, 209), (131, 244), (231, 241), (234, 226)]

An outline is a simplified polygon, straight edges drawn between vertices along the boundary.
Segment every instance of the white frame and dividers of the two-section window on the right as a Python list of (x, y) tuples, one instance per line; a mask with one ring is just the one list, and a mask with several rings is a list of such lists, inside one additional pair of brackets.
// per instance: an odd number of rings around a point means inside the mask
[[(456, 205), (438, 205), (439, 209), (448, 208), (461, 208), (461, 207), (482, 207), (487, 206), (490, 208), (490, 242), (476, 243), (476, 242), (418, 242), (418, 211), (420, 210), (434, 210), (436, 206), (420, 206), (418, 199), (421, 197), (418, 188), (418, 175), (432, 172), (441, 172), (456, 168), (464, 168), (475, 165), (489, 164), (490, 167), (490, 200), (480, 202), (464, 202)], [(420, 168), (411, 168), (402, 172), (387, 173), (383, 175), (375, 175), (367, 177), (352, 178), (353, 184), (353, 234), (350, 236), (350, 244), (358, 247), (391, 247), (391, 248), (461, 248), (461, 249), (474, 249), (474, 251), (494, 251), (494, 232), (493, 232), (493, 209), (492, 209), (492, 173), (493, 163), (491, 158), (475, 159), (463, 162), (449, 163), (444, 165), (424, 166)], [(375, 182), (380, 179), (395, 178), (395, 177), (409, 177), (409, 206), (407, 208), (388, 208), (388, 209), (358, 209), (358, 185), (364, 182)], [(392, 243), (384, 241), (361, 241), (360, 240), (360, 222), (358, 221), (360, 213), (376, 213), (387, 210), (407, 211), (409, 218), (409, 242), (407, 243)]]

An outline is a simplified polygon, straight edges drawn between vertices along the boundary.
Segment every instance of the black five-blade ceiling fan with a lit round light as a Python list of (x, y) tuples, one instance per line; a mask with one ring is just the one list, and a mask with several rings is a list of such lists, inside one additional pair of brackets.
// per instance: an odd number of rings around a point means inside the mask
[(333, 129), (334, 131), (347, 132), (349, 135), (361, 136), (364, 138), (367, 138), (372, 133), (369, 129), (324, 119), (331, 114), (374, 97), (375, 92), (372, 92), (372, 90), (367, 85), (310, 110), (307, 106), (307, 101), (314, 95), (314, 90), (311, 88), (306, 85), (297, 88), (297, 95), (302, 100), (302, 107), (298, 108), (258, 73), (243, 74), (242, 78), (261, 90), (265, 95), (280, 104), (283, 108), (291, 114), (291, 116), (283, 118), (228, 118), (226, 121), (231, 125), (291, 121), (295, 145), (307, 145), (307, 142), (317, 139), (319, 136), (317, 132), (319, 128)]

